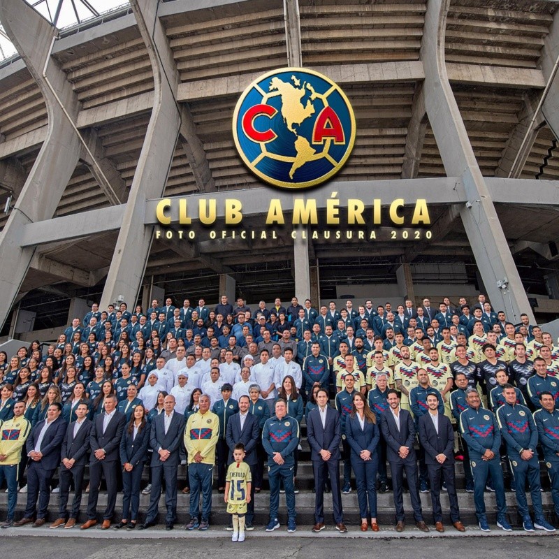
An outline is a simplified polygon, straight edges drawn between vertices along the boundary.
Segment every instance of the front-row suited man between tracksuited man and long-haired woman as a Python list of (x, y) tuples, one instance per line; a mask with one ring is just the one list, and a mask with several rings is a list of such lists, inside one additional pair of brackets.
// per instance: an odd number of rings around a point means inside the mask
[(307, 439), (310, 444), (312, 471), (316, 480), (314, 488), (314, 527), (313, 532), (324, 530), (324, 485), (330, 477), (332, 504), (336, 530), (347, 532), (342, 509), (340, 491), (340, 414), (328, 405), (328, 391), (320, 389), (317, 393), (318, 407), (312, 409), (307, 417)]

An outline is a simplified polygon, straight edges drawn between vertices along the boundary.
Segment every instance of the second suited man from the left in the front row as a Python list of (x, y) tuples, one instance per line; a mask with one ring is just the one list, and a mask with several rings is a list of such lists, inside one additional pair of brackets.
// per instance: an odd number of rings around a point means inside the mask
[[(85, 465), (89, 458), (89, 433), (92, 430), (93, 423), (87, 419), (89, 413), (89, 404), (80, 402), (75, 408), (75, 415), (78, 419), (72, 421), (66, 429), (66, 435), (62, 441), (60, 452), (60, 505), (58, 518), (50, 525), (50, 528), (58, 528), (64, 525), (64, 528), (73, 528), (75, 519), (78, 518), (80, 512), (80, 504), (82, 502), (82, 482)], [(66, 522), (66, 505), (68, 504), (68, 493), (70, 493), (70, 483), (74, 481), (74, 500), (72, 502), (72, 511)]]

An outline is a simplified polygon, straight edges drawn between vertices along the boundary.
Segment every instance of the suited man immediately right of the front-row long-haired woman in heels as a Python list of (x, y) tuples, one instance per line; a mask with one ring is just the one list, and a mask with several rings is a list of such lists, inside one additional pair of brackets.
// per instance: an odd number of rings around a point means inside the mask
[(404, 471), (406, 472), (409, 497), (414, 508), (416, 526), (422, 532), (428, 532), (429, 528), (425, 521), (423, 521), (421, 500), (419, 500), (417, 460), (414, 451), (414, 420), (406, 409), (400, 408), (398, 392), (389, 390), (387, 400), (390, 408), (381, 416), (380, 430), (384, 440), (386, 440), (386, 458), (390, 463), (392, 472), (394, 506), (396, 509), (396, 532), (403, 532), (405, 528), (404, 500), (402, 495)]

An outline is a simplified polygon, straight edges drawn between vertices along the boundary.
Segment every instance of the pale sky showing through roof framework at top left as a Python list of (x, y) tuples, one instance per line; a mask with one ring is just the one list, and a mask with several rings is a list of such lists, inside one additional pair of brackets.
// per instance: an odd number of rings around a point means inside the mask
[[(98, 13), (107, 12), (112, 10), (117, 6), (122, 6), (127, 4), (127, 0), (25, 0), (30, 6), (46, 17), (50, 22), (52, 22), (57, 11), (57, 6), (61, 2), (62, 8), (60, 10), (59, 19), (57, 22), (57, 27), (59, 29), (63, 27), (68, 27), (68, 25), (73, 25), (78, 23), (78, 18), (75, 15), (75, 11), (78, 12), (80, 20), (89, 19), (89, 17), (94, 17), (94, 14), (89, 10), (86, 4), (89, 3)], [(85, 1), (85, 3), (84, 3)], [(75, 10), (74, 10), (75, 6)], [(3, 27), (0, 26), (0, 60), (10, 57), (15, 54), (15, 48), (9, 39), (3, 34)]]

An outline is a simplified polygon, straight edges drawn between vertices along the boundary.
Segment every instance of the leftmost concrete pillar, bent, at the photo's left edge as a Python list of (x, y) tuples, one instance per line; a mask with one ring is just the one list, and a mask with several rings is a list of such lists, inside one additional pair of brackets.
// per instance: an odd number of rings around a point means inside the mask
[[(55, 214), (78, 162), (80, 140), (43, 78), (45, 60), (57, 33), (55, 27), (21, 0), (0, 0), (0, 21), (41, 89), (48, 114), (45, 141), (0, 233), (0, 262), (3, 263), (0, 266), (0, 325), (3, 325), (35, 252), (34, 247), (20, 247), (22, 228), (32, 222), (50, 219)], [(66, 75), (55, 61), (48, 64), (46, 76), (70, 117), (75, 119), (78, 102)]]

